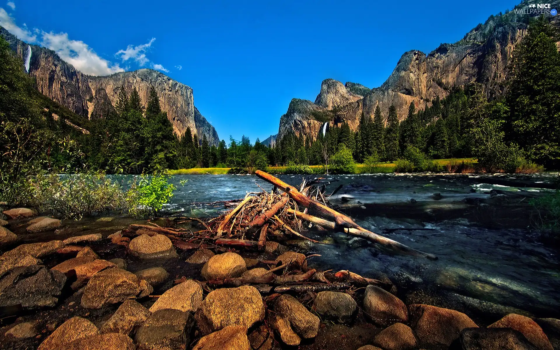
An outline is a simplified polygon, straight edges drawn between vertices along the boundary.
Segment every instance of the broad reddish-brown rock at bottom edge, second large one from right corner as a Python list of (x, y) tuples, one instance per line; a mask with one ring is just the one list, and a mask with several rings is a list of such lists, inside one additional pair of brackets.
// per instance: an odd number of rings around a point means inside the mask
[(409, 305), (408, 308), (410, 328), (416, 333), (421, 347), (447, 349), (459, 338), (461, 330), (478, 327), (463, 312), (423, 304)]

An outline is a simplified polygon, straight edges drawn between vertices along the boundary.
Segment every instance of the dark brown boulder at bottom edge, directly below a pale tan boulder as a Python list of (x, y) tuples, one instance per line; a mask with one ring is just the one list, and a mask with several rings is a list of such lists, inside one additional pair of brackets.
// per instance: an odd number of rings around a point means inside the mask
[(157, 310), (136, 332), (138, 350), (185, 349), (190, 343), (194, 318), (190, 312), (176, 309)]

